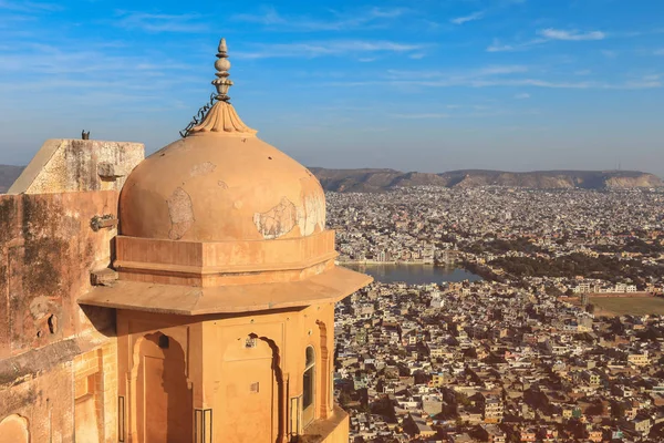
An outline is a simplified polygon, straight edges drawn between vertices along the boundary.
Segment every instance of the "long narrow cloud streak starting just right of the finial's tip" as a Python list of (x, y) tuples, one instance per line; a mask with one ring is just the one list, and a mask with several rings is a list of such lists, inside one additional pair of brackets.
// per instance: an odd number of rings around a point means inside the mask
[[(375, 52), (422, 51), (426, 44), (398, 43), (393, 41), (331, 40), (319, 42), (258, 44), (255, 51), (234, 52), (238, 59), (317, 58), (324, 55), (357, 55)], [(419, 52), (418, 52), (419, 53)]]

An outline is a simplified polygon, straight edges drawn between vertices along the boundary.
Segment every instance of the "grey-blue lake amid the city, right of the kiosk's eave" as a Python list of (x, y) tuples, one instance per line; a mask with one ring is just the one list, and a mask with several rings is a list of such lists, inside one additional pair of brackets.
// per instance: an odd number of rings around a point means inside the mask
[(369, 274), (376, 281), (393, 284), (403, 281), (407, 285), (428, 285), (446, 281), (478, 281), (481, 277), (460, 268), (445, 268), (433, 265), (343, 265), (346, 268)]

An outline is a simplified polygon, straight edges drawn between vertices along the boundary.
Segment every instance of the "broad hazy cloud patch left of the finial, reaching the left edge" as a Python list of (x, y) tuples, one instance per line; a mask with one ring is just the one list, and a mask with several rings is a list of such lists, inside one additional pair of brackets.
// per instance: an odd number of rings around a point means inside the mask
[[(117, 45), (81, 45), (79, 41), (17, 42), (0, 49), (0, 93), (3, 105), (41, 97), (44, 106), (66, 102), (69, 113), (94, 103), (106, 110), (138, 112), (151, 106), (174, 105), (174, 97), (207, 82), (188, 63), (175, 61), (156, 49), (148, 55), (127, 54)], [(172, 91), (167, 96), (163, 91)]]

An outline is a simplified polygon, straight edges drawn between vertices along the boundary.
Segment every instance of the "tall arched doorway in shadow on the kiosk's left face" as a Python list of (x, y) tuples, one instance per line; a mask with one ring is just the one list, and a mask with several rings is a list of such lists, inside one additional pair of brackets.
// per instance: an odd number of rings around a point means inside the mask
[(181, 346), (168, 336), (154, 333), (145, 337), (139, 352), (137, 425), (142, 442), (190, 442), (191, 390)]

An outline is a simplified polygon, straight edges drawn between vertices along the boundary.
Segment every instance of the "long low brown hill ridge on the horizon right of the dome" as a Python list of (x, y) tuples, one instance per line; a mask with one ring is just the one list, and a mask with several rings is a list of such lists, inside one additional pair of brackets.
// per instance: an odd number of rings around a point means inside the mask
[(311, 167), (325, 190), (375, 193), (405, 186), (512, 186), (535, 189), (658, 187), (664, 182), (636, 171), (504, 171), (463, 169), (440, 174), (403, 173), (395, 169), (325, 169)]

